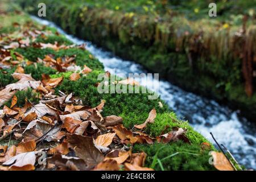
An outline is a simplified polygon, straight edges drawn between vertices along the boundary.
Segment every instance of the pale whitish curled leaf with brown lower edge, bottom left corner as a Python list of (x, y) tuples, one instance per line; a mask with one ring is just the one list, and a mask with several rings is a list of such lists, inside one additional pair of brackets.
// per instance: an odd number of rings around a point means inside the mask
[(13, 171), (31, 171), (35, 169), (36, 162), (35, 152), (24, 152), (13, 156), (7, 160), (3, 165), (10, 166), (9, 169)]

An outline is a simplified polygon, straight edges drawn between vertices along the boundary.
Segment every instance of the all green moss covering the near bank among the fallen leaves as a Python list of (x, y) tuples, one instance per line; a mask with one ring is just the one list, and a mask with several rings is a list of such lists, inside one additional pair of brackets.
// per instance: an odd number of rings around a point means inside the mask
[[(7, 14), (6, 14), (7, 13)], [(26, 14), (15, 14), (10, 10), (5, 12), (5, 14), (0, 14), (0, 18), (8, 22), (7, 24), (1, 24), (2, 28), (5, 28), (5, 34), (17, 36), (19, 39), (18, 32), (20, 31), (20, 27), (22, 27), (22, 22), (20, 22), (20, 26), (12, 29), (10, 26), (15, 23), (16, 18), (23, 19), (25, 23), (31, 24), (31, 20), (26, 16)], [(33, 23), (34, 24), (34, 23)], [(31, 26), (30, 26), (31, 28)], [(32, 26), (32, 28), (39, 28), (40, 31), (49, 31), (47, 27), (41, 27), (39, 25)], [(70, 42), (63, 38), (61, 35), (55, 35), (56, 30), (51, 30), (52, 34), (44, 37), (44, 40), (38, 38), (35, 42), (38, 41), (51, 41), (58, 42), (61, 44), (70, 44)], [(22, 38), (21, 38), (22, 39)], [(40, 40), (39, 40), (40, 39)], [(156, 109), (156, 119), (154, 123), (151, 123), (147, 126), (147, 134), (155, 137), (159, 135), (167, 126), (168, 129), (165, 130), (170, 131), (172, 127), (182, 127), (183, 129), (187, 129), (186, 136), (190, 140), (191, 144), (185, 144), (184, 142), (171, 142), (168, 144), (155, 143), (152, 145), (136, 145), (133, 150), (134, 151), (145, 151), (147, 153), (147, 162), (146, 165), (148, 167), (152, 167), (154, 169), (191, 169), (191, 170), (212, 170), (214, 169), (212, 165), (208, 163), (209, 159), (209, 151), (215, 150), (211, 145), (210, 148), (203, 148), (201, 143), (208, 142), (201, 134), (197, 133), (193, 130), (191, 126), (189, 126), (188, 122), (180, 121), (177, 119), (175, 113), (172, 113), (166, 104), (164, 104), (161, 100), (148, 100), (148, 94), (100, 94), (97, 92), (97, 87), (95, 86), (98, 82), (97, 76), (99, 73), (104, 73), (104, 68), (100, 61), (95, 59), (90, 53), (86, 50), (82, 50), (79, 48), (68, 48), (68, 49), (59, 49), (54, 50), (51, 48), (36, 48), (32, 46), (32, 44), (25, 48), (13, 48), (11, 52), (18, 52), (22, 56), (24, 56), (25, 63), (28, 61), (36, 62), (38, 57), (45, 57), (46, 55), (54, 55), (57, 57), (64, 56), (73, 56), (76, 55), (75, 63), (79, 66), (87, 65), (92, 68), (93, 71), (86, 76), (81, 77), (77, 81), (71, 81), (69, 76), (72, 72), (66, 73), (57, 73), (55, 69), (46, 67), (43, 64), (35, 63), (35, 64), (24, 64), (24, 72), (31, 73), (31, 75), (36, 79), (40, 80), (42, 74), (48, 74), (53, 77), (64, 76), (64, 80), (61, 85), (57, 86), (55, 89), (55, 94), (57, 94), (57, 90), (61, 90), (64, 93), (75, 93), (75, 96), (82, 98), (82, 102), (84, 105), (96, 106), (100, 103), (101, 100), (105, 100), (104, 112), (102, 116), (106, 115), (119, 115), (123, 118), (123, 124), (127, 128), (133, 127), (135, 124), (143, 123), (148, 117), (149, 111), (155, 107)], [(14, 59), (16, 59), (15, 55)], [(1, 79), (1, 88), (5, 85), (10, 84), (12, 82), (16, 82), (16, 80), (11, 79), (11, 73), (15, 71), (16, 67), (13, 68), (3, 68), (0, 72)], [(2, 81), (3, 80), (3, 81)], [(32, 102), (32, 104), (36, 104), (38, 99), (36, 98), (36, 94), (32, 92), (31, 89), (22, 90), (16, 92), (16, 97), (18, 98), (18, 105), (23, 105), (25, 99), (27, 98)], [(163, 103), (163, 107), (159, 106), (159, 102)], [(10, 105), (10, 101), (6, 103), (6, 105)], [(13, 141), (12, 141), (13, 142)], [(7, 141), (8, 143), (8, 141)], [(2, 143), (1, 143), (2, 144)], [(177, 155), (172, 156), (178, 152)], [(155, 162), (158, 159), (160, 162)], [(162, 166), (161, 164), (164, 164)]]

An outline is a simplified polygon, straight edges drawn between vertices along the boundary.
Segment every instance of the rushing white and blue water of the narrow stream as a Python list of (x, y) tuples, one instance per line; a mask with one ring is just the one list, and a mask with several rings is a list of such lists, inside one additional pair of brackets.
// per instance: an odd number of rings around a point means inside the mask
[[(86, 43), (86, 49), (97, 57), (104, 64), (105, 70), (110, 73), (118, 76), (128, 75), (129, 73), (147, 73), (141, 65), (133, 61), (122, 60), (90, 42), (66, 34), (55, 23), (35, 16), (32, 16), (32, 18), (38, 23), (57, 28), (61, 34), (64, 34), (73, 43)], [(145, 84), (146, 77), (139, 81), (142, 85)], [(145, 86), (158, 92), (162, 100), (166, 101), (170, 109), (174, 110), (179, 118), (188, 120), (196, 131), (214, 143), (209, 134), (212, 132), (218, 143), (224, 144), (240, 164), (248, 169), (256, 169), (256, 125), (248, 122), (245, 118), (238, 117), (239, 111), (232, 111), (213, 100), (185, 92), (164, 80), (153, 79), (151, 82), (147, 81)]]

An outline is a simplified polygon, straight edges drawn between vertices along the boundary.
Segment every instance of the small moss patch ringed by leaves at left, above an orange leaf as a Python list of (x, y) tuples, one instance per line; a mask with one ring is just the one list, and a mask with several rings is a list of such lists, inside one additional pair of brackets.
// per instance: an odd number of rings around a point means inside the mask
[(26, 74), (31, 74), (35, 80), (42, 80), (42, 74), (52, 75), (57, 71), (55, 69), (45, 67), (43, 64), (36, 63), (36, 65), (28, 65), (24, 68)]

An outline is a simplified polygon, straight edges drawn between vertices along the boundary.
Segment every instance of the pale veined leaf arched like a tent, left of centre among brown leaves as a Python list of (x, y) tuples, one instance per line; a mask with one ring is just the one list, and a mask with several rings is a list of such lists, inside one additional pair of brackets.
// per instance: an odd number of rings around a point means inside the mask
[(25, 116), (27, 116), (30, 113), (34, 113), (34, 112), (36, 113), (36, 115), (38, 115), (39, 118), (43, 117), (46, 114), (56, 116), (56, 111), (51, 109), (50, 107), (48, 107), (47, 105), (45, 105), (43, 103), (34, 105), (29, 111), (27, 111)]

